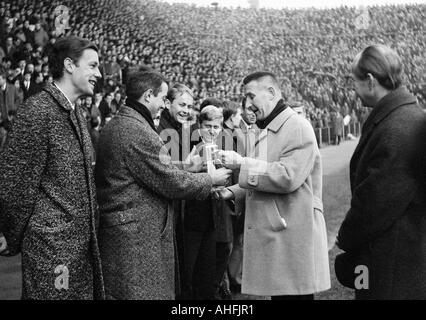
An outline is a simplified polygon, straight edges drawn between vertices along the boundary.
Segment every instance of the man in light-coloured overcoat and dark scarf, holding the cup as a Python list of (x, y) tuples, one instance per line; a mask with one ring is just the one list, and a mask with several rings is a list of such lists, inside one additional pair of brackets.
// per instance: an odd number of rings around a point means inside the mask
[(239, 186), (220, 196), (246, 201), (241, 291), (273, 300), (313, 299), (330, 288), (315, 134), (286, 106), (274, 74), (256, 72), (243, 83), (247, 107), (262, 129), (255, 157), (219, 152), (226, 167), (240, 169)]

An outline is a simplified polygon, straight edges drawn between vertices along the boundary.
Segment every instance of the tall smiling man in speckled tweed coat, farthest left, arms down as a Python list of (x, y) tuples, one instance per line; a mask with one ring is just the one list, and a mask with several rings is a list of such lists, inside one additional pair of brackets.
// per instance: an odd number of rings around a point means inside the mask
[(55, 82), (18, 109), (0, 155), (0, 209), (9, 254), (22, 252), (24, 299), (103, 298), (91, 141), (75, 101), (101, 76), (95, 45), (58, 40)]

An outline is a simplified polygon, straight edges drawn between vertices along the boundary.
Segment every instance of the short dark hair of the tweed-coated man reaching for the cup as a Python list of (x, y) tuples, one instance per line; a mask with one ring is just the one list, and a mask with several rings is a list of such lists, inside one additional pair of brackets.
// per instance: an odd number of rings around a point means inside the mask
[(156, 71), (135, 71), (127, 79), (127, 98), (139, 100), (143, 93), (149, 89), (152, 89), (154, 96), (157, 96), (163, 83), (167, 84), (166, 78)]

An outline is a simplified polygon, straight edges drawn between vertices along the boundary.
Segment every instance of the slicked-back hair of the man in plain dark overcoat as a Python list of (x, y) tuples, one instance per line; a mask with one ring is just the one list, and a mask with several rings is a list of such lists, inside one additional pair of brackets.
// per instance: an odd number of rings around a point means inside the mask
[(384, 45), (371, 45), (365, 48), (352, 65), (352, 73), (360, 80), (370, 73), (388, 90), (398, 88), (402, 83), (402, 63), (398, 54)]

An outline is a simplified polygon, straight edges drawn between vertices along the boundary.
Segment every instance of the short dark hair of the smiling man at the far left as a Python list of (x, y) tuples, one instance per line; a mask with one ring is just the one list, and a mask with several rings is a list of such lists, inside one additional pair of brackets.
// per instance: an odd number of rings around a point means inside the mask
[(64, 75), (64, 60), (70, 58), (77, 63), (86, 49), (98, 52), (98, 47), (87, 39), (70, 36), (58, 39), (49, 54), (49, 68), (53, 79), (60, 79)]

